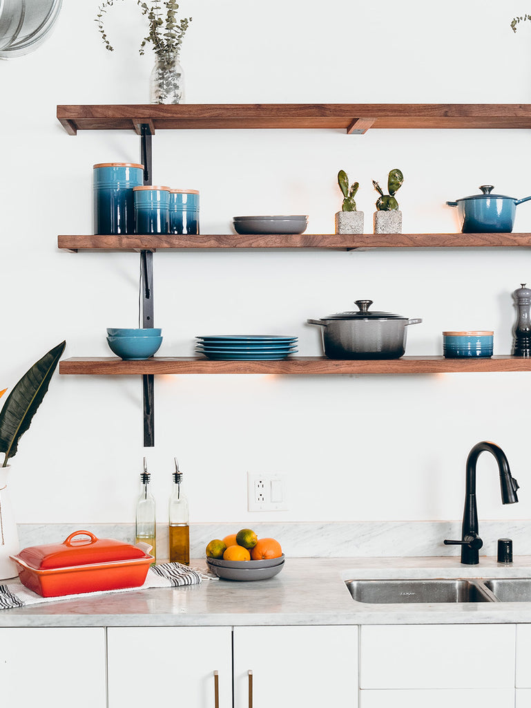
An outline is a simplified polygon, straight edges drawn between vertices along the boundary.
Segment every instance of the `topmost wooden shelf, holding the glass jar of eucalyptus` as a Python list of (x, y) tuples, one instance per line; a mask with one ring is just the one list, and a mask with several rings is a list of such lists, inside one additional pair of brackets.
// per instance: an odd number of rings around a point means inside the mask
[(58, 105), (69, 135), (78, 130), (300, 128), (362, 134), (371, 128), (531, 128), (525, 103), (226, 103)]

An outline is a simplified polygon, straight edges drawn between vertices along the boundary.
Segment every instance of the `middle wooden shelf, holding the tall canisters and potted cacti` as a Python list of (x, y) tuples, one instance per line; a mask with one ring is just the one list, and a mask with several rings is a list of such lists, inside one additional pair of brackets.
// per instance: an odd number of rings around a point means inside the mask
[(164, 249), (456, 249), (531, 246), (531, 234), (198, 234), (177, 236), (58, 236), (66, 251), (161, 251)]

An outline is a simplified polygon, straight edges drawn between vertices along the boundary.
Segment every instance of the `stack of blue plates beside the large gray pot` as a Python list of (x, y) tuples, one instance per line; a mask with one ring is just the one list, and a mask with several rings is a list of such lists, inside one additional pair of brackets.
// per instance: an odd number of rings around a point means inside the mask
[(273, 334), (216, 334), (196, 339), (196, 351), (209, 359), (274, 360), (297, 351), (296, 337)]

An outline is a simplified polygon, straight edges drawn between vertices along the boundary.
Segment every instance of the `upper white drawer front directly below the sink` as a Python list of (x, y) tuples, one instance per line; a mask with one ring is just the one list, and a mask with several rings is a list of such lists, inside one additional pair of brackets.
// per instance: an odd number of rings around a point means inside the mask
[(361, 627), (361, 688), (514, 688), (514, 624)]

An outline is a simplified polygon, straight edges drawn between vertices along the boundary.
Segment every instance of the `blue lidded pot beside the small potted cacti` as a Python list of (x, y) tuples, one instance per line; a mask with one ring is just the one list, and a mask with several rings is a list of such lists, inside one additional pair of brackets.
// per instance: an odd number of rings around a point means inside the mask
[(527, 202), (531, 197), (513, 199), (501, 194), (491, 194), (491, 185), (479, 188), (483, 194), (463, 197), (455, 202), (446, 202), (449, 207), (457, 207), (463, 234), (489, 234), (513, 231), (516, 207)]

